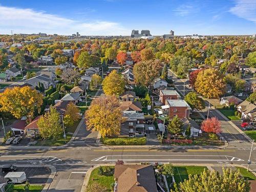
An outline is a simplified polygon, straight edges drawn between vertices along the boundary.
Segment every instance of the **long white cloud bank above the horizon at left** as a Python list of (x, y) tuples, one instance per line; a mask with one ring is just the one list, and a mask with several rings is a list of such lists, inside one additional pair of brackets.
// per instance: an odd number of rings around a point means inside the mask
[(58, 33), (73, 34), (79, 32), (82, 35), (123, 35), (130, 31), (124, 29), (120, 24), (108, 21), (80, 22), (70, 18), (44, 11), (32, 9), (20, 9), (14, 7), (3, 7), (0, 5), (0, 33)]

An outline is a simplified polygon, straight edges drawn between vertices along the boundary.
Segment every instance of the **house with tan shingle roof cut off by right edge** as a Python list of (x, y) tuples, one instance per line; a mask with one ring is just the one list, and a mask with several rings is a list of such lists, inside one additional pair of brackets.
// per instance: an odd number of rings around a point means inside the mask
[(249, 101), (243, 101), (237, 106), (242, 119), (254, 119), (256, 117), (256, 105)]

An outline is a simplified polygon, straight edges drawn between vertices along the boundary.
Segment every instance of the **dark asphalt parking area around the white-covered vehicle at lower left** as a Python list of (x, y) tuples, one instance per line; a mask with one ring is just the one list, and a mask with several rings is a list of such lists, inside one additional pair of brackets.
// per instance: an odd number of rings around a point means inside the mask
[[(45, 184), (51, 173), (47, 167), (18, 167), (16, 171), (25, 172), (30, 184)], [(6, 174), (1, 171), (1, 176)]]

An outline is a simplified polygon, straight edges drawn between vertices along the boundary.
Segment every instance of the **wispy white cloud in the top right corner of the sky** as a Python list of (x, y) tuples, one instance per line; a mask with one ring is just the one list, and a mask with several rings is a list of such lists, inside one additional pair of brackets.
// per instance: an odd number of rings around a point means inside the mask
[(238, 17), (256, 22), (256, 1), (255, 0), (236, 0), (236, 5), (230, 8), (229, 12)]

